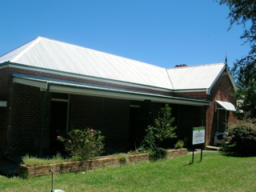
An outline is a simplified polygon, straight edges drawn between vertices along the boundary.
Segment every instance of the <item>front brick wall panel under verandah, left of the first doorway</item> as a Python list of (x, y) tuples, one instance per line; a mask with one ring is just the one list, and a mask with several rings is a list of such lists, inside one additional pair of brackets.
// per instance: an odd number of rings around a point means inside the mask
[(13, 85), (7, 143), (12, 152), (38, 150), (41, 92), (38, 88)]

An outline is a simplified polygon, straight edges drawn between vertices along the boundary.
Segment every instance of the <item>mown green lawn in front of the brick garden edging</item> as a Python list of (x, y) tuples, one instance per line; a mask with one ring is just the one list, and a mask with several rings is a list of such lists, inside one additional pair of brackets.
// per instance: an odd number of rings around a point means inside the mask
[[(54, 175), (54, 189), (72, 191), (256, 191), (256, 158), (218, 153)], [(50, 191), (51, 176), (0, 177), (0, 191)]]

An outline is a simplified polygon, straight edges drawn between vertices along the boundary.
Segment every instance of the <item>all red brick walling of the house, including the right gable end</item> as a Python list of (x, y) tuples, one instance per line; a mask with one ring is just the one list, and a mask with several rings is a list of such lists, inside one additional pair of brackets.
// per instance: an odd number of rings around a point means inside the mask
[[(0, 111), (5, 114), (0, 118), (0, 151), (6, 151), (4, 148), (12, 147), (13, 151), (28, 153), (38, 150), (40, 118), (41, 118), (41, 99), (42, 92), (33, 86), (25, 86), (18, 83), (12, 83), (12, 73), (39, 75), (50, 78), (60, 78), (77, 82), (90, 82), (80, 78), (70, 78), (58, 74), (46, 74), (43, 72), (34, 72), (16, 68), (4, 68), (0, 70), (0, 99), (8, 102), (8, 107)], [(94, 82), (102, 85), (108, 85), (105, 82)], [(117, 85), (112, 85), (117, 86)], [(120, 86), (118, 86), (120, 87)], [(126, 87), (128, 88), (128, 87)], [(138, 88), (133, 88), (139, 90)], [(152, 91), (152, 90), (146, 90)], [(177, 93), (175, 96), (190, 98), (207, 98), (213, 101), (211, 106), (182, 106), (179, 107), (179, 133), (180, 138), (191, 135), (192, 127), (206, 126), (206, 145), (212, 142), (210, 134), (216, 132), (216, 113), (214, 113), (214, 100), (226, 102), (235, 102), (230, 96), (232, 85), (226, 73), (218, 79), (210, 96), (206, 93)], [(170, 94), (170, 93), (164, 93)], [(50, 133), (50, 97), (46, 102), (46, 122), (44, 129), (44, 150), (49, 148)], [(153, 114), (162, 106), (161, 103), (150, 104)], [(178, 105), (176, 105), (178, 107)], [(6, 112), (7, 111), (7, 112)], [(177, 112), (177, 111), (176, 111)], [(205, 115), (206, 113), (206, 115)], [(128, 147), (129, 133), (130, 101), (114, 98), (100, 98), (82, 95), (70, 95), (70, 129), (77, 129), (89, 126), (92, 129), (102, 130), (106, 136), (106, 148), (114, 149), (114, 146), (120, 146), (119, 150)], [(234, 113), (230, 113), (231, 122), (235, 122)], [(191, 139), (191, 138), (189, 138)], [(190, 140), (188, 142), (191, 142)], [(115, 151), (113, 151), (115, 152)]]

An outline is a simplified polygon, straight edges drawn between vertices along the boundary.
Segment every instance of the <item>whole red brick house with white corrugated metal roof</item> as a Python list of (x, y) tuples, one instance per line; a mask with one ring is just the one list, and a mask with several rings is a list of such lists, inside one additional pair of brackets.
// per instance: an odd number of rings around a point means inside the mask
[(106, 151), (133, 150), (165, 103), (188, 146), (194, 126), (207, 146), (236, 121), (226, 62), (165, 69), (38, 37), (0, 58), (0, 78), (0, 155), (55, 153), (58, 134), (86, 126)]

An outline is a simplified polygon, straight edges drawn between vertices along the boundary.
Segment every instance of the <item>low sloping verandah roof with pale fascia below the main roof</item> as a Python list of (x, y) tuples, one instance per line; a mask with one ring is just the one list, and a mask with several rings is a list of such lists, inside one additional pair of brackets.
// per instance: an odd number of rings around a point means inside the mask
[(138, 90), (126, 90), (117, 87), (92, 85), (82, 82), (70, 82), (54, 78), (43, 78), (25, 74), (13, 74), (13, 82), (28, 86), (36, 86), (42, 91), (66, 93), (66, 94), (84, 94), (107, 98), (122, 98), (129, 100), (151, 100), (152, 102), (166, 102), (191, 106), (210, 106), (210, 102), (199, 99), (178, 98), (164, 94), (153, 94)]

